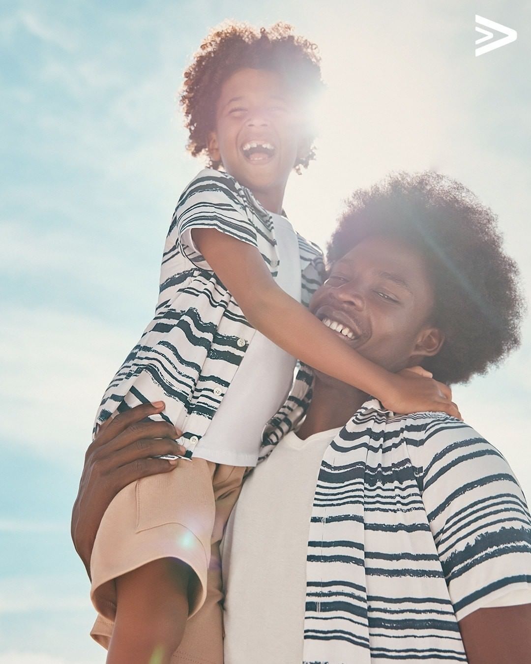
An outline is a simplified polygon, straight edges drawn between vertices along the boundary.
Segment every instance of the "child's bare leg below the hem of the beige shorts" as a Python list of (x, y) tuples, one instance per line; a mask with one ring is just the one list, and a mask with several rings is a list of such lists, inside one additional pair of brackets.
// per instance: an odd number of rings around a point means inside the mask
[(153, 560), (116, 579), (117, 608), (107, 664), (169, 664), (189, 615), (190, 568)]

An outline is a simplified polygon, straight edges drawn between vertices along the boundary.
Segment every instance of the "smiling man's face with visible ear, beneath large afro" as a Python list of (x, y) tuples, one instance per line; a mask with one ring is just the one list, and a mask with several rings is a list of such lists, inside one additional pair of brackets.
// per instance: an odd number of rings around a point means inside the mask
[(310, 310), (360, 355), (400, 371), (435, 355), (441, 332), (429, 325), (433, 288), (425, 262), (408, 244), (363, 240), (332, 267)]

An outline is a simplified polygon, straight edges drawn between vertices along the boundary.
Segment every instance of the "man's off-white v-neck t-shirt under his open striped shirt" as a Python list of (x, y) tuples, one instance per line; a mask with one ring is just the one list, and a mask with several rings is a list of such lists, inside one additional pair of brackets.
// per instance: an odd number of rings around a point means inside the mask
[[(226, 664), (303, 661), (309, 521), (321, 460), (338, 433), (301, 440), (290, 432), (244, 483), (223, 544)], [(528, 602), (529, 590), (515, 590), (482, 608)]]

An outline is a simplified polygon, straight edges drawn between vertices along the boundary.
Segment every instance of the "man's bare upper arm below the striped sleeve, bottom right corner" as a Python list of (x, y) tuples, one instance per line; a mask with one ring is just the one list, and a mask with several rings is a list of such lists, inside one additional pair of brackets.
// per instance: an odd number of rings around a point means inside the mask
[(459, 621), (469, 664), (529, 664), (531, 604), (479, 609)]

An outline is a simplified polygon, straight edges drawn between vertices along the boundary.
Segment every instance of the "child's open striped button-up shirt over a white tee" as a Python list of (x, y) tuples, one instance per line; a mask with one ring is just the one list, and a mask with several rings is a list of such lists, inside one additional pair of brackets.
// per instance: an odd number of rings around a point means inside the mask
[[(192, 242), (214, 228), (260, 251), (271, 276), (279, 268), (271, 214), (227, 173), (204, 169), (187, 186), (165, 243), (155, 317), (108, 386), (96, 427), (115, 410), (165, 400), (163, 419), (183, 430), (189, 454), (204, 436), (255, 329)], [(322, 282), (321, 250), (297, 234), (301, 301)], [(257, 449), (260, 441), (257, 441)]]

